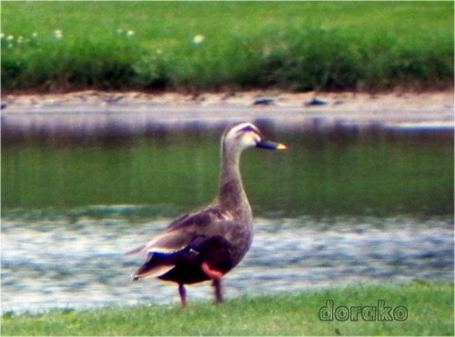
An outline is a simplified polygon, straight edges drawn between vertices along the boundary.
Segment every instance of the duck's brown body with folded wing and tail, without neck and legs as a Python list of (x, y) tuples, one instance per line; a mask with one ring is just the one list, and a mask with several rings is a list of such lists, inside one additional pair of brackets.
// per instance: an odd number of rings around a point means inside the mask
[(202, 263), (226, 274), (248, 252), (252, 225), (217, 205), (188, 213), (170, 223), (167, 230), (142, 250), (149, 258), (137, 277), (155, 274), (166, 281), (194, 283), (209, 280)]

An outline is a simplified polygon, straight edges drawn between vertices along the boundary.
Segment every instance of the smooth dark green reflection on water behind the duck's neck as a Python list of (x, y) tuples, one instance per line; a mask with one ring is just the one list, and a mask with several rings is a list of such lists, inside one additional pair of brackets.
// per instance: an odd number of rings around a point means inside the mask
[[(242, 176), (257, 214), (453, 214), (451, 133), (265, 134), (288, 150), (243, 154)], [(107, 144), (3, 143), (2, 206), (198, 207), (217, 192), (218, 144), (213, 131), (169, 131)]]

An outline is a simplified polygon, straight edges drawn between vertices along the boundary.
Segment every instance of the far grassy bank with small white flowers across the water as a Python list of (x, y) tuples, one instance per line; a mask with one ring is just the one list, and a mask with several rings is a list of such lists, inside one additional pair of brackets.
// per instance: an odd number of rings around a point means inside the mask
[(2, 88), (435, 89), (452, 2), (2, 2)]

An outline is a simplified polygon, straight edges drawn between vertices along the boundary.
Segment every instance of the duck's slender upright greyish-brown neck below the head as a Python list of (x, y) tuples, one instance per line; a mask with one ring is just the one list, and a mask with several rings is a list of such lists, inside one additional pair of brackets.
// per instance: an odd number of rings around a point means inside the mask
[(239, 162), (240, 152), (236, 148), (223, 147), (217, 202), (222, 209), (250, 222), (252, 219), (251, 207), (248, 203), (247, 194), (243, 189)]

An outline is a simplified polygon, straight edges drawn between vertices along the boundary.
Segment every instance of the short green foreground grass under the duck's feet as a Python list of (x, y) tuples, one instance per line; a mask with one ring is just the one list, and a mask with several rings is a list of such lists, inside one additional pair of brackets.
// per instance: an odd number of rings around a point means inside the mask
[[(406, 320), (319, 320), (339, 306), (407, 309)], [(392, 317), (393, 319), (393, 317)], [(453, 284), (359, 285), (298, 294), (241, 297), (221, 305), (144, 305), (38, 315), (5, 314), (2, 335), (453, 335)]]

